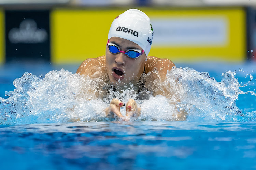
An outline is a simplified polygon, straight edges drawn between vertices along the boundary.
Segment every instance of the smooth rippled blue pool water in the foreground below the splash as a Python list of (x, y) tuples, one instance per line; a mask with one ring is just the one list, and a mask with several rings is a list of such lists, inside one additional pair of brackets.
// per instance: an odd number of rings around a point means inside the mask
[(255, 169), (256, 123), (1, 126), (1, 169)]

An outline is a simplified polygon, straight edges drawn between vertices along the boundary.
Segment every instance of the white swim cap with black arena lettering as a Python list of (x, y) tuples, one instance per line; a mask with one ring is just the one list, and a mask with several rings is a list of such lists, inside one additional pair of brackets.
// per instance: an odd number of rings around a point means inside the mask
[(130, 9), (114, 19), (108, 39), (111, 37), (124, 38), (138, 44), (148, 56), (153, 39), (153, 28), (144, 12)]

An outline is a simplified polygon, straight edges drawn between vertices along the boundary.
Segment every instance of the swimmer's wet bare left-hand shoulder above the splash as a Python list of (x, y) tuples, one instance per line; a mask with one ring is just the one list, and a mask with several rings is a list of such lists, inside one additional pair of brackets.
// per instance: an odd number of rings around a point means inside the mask
[(95, 67), (105, 67), (106, 66), (106, 56), (100, 56), (97, 58), (87, 58), (79, 68), (77, 69), (77, 74), (86, 74), (88, 71), (91, 70), (91, 68)]

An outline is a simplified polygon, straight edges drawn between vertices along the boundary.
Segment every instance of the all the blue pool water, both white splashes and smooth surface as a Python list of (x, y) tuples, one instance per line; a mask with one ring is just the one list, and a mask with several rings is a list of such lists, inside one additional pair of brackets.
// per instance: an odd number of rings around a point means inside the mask
[(84, 100), (78, 65), (0, 68), (1, 169), (256, 168), (256, 63), (178, 63), (165, 85), (182, 94), (176, 106), (187, 119), (173, 121), (175, 104), (156, 96), (130, 122), (104, 120), (107, 104)]

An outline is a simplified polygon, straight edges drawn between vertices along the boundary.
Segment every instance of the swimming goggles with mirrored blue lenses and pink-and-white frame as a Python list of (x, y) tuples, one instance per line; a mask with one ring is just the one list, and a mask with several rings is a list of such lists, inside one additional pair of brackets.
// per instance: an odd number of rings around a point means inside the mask
[(119, 47), (113, 43), (109, 43), (109, 40), (108, 40), (108, 48), (109, 48), (109, 52), (111, 52), (112, 54), (117, 54), (121, 52), (121, 53), (125, 53), (128, 57), (134, 58), (134, 59), (138, 58), (144, 53), (144, 50), (141, 52), (141, 50), (138, 50), (138, 49), (129, 49), (126, 52), (120, 51)]

